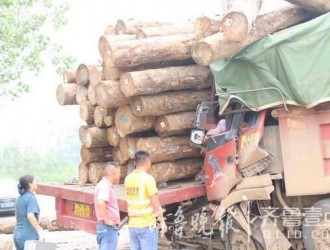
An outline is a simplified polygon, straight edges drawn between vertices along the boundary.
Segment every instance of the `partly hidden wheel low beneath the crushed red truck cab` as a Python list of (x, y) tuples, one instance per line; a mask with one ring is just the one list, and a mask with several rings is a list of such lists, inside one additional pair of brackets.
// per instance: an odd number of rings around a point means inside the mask
[(254, 241), (245, 231), (235, 229), (229, 232), (230, 249), (232, 250), (257, 250)]

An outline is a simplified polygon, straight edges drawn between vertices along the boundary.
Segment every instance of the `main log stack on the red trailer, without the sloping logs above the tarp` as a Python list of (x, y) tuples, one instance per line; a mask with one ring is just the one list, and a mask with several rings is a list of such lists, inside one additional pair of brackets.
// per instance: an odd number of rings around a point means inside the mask
[(137, 150), (150, 153), (157, 183), (194, 177), (203, 159), (189, 133), (197, 105), (214, 96), (209, 67), (191, 59), (194, 25), (119, 20), (113, 30), (99, 39), (102, 63), (66, 72), (57, 89), (58, 102), (79, 104), (86, 122), (79, 129), (81, 184), (99, 181), (111, 160), (123, 180)]

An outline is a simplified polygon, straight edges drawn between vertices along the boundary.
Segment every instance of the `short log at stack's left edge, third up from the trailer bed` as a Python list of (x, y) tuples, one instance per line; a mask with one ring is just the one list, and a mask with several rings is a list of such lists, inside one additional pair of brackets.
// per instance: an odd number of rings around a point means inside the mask
[(84, 141), (82, 141), (82, 143), (86, 148), (103, 148), (110, 146), (107, 140), (106, 128), (90, 127), (87, 129), (83, 139)]

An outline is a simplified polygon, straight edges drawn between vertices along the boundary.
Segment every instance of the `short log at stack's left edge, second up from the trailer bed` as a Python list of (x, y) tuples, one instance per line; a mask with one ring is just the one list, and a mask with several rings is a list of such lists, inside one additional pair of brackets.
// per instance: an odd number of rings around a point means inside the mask
[(80, 149), (80, 156), (85, 165), (98, 161), (111, 161), (112, 148), (86, 148), (82, 146)]

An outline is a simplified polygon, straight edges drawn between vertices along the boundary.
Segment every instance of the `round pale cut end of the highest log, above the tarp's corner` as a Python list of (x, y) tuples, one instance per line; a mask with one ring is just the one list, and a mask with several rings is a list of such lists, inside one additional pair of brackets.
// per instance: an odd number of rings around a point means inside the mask
[(222, 31), (226, 39), (242, 42), (249, 32), (246, 16), (241, 12), (228, 13), (222, 20)]

